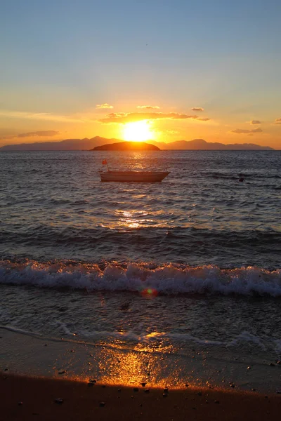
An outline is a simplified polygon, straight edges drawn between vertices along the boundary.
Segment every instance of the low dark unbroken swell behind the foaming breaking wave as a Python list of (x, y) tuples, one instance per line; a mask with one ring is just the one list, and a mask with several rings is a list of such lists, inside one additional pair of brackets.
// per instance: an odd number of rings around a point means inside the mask
[[(242, 205), (243, 206), (243, 203)], [(174, 217), (173, 214), (170, 215)], [(168, 215), (169, 217), (169, 215)], [(168, 218), (166, 215), (166, 218)], [(163, 224), (165, 221), (163, 222)], [(98, 227), (84, 227), (84, 226), (67, 226), (67, 227), (52, 227), (50, 225), (44, 225), (37, 223), (34, 225), (7, 225), (2, 229), (1, 242), (8, 243), (13, 242), (14, 244), (20, 243), (21, 245), (34, 244), (38, 246), (50, 246), (50, 245), (67, 245), (71, 243), (84, 243), (84, 246), (89, 246), (102, 241), (105, 243), (120, 243), (120, 241), (126, 241), (126, 243), (136, 242), (138, 246), (142, 244), (145, 248), (148, 246), (148, 241), (151, 240), (150, 246), (155, 242), (162, 241), (166, 235), (177, 236), (178, 238), (185, 239), (188, 241), (204, 241), (206, 246), (209, 242), (216, 243), (216, 245), (222, 245), (224, 248), (228, 246), (247, 246), (255, 245), (268, 246), (273, 248), (277, 246), (278, 251), (280, 248), (281, 232), (278, 229), (243, 229), (241, 231), (232, 231), (230, 229), (206, 229), (197, 227), (181, 227), (176, 223), (171, 227), (157, 226), (153, 227), (104, 227), (100, 225)], [(100, 245), (100, 243), (99, 243)], [(181, 244), (183, 246), (183, 244)]]

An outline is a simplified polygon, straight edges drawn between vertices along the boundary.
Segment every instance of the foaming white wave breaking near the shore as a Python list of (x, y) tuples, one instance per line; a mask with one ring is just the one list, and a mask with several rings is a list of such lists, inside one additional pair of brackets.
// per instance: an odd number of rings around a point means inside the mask
[(143, 295), (221, 294), (281, 297), (281, 269), (220, 269), (152, 263), (0, 262), (0, 283), (39, 288), (128, 291)]

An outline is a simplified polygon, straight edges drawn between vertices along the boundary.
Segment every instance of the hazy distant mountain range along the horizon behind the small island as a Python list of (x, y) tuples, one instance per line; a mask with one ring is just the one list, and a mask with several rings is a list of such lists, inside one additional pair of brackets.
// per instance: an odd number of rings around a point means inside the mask
[[(21, 143), (19, 145), (6, 145), (0, 147), (0, 151), (71, 151), (71, 150), (89, 150), (97, 146), (108, 145), (120, 142), (119, 139), (107, 139), (95, 136), (88, 139), (66, 139), (59, 142), (35, 142)], [(176, 142), (157, 142), (149, 140), (149, 145), (155, 145), (159, 149), (184, 149), (184, 150), (274, 150), (269, 146), (259, 146), (254, 143), (235, 143), (233, 145), (224, 145), (218, 142), (206, 142), (204, 139), (194, 140), (176, 140)], [(129, 143), (129, 142), (121, 142)], [(143, 142), (133, 142), (143, 143)], [(101, 149), (108, 150), (108, 149)], [(113, 149), (111, 149), (113, 150)], [(115, 149), (117, 150), (117, 149)], [(120, 150), (120, 149), (118, 149)], [(130, 149), (132, 150), (132, 149)], [(135, 149), (136, 150), (136, 149)], [(139, 150), (139, 149), (138, 149)], [(155, 149), (154, 149), (155, 150)]]

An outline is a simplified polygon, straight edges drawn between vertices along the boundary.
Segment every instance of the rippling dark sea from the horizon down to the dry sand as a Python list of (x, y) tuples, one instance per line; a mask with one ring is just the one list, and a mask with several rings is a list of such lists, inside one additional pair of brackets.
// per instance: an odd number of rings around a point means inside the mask
[(280, 387), (281, 151), (1, 152), (0, 260), (0, 370)]

